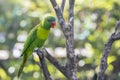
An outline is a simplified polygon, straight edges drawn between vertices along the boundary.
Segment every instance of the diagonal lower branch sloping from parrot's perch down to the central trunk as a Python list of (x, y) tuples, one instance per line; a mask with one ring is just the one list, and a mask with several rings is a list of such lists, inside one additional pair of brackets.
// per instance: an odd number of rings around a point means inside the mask
[(46, 58), (61, 72), (63, 73), (66, 77), (66, 70), (65, 70), (65, 66), (63, 66), (62, 64), (60, 64), (54, 57), (52, 57), (48, 51), (43, 48), (42, 52), (45, 54)]

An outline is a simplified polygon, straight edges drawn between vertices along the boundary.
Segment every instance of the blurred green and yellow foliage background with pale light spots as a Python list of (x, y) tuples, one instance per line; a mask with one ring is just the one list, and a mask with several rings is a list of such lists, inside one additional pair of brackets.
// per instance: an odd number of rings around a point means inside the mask
[[(62, 0), (56, 0), (60, 5)], [(68, 1), (68, 0), (66, 0)], [(76, 0), (74, 19), (75, 54), (78, 55), (79, 80), (95, 80), (104, 44), (120, 19), (119, 0)], [(46, 14), (55, 15), (49, 0), (0, 0), (0, 80), (18, 80), (23, 43), (29, 31)], [(56, 16), (56, 15), (55, 15)], [(64, 18), (68, 18), (68, 2)], [(44, 47), (65, 63), (65, 38), (59, 24), (49, 35)], [(44, 80), (38, 57), (31, 55), (20, 80)], [(116, 41), (108, 57), (106, 80), (120, 80), (120, 41)], [(54, 80), (66, 78), (47, 61)]]

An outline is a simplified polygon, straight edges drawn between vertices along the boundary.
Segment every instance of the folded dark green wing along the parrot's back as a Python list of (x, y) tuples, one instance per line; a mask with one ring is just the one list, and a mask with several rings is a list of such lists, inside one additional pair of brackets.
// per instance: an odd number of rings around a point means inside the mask
[(27, 40), (24, 43), (24, 48), (22, 50), (22, 55), (24, 55), (24, 53), (26, 52), (26, 50), (30, 47), (30, 45), (34, 42), (34, 40), (36, 39), (36, 31), (37, 31), (37, 27), (33, 28), (30, 33), (28, 34)]

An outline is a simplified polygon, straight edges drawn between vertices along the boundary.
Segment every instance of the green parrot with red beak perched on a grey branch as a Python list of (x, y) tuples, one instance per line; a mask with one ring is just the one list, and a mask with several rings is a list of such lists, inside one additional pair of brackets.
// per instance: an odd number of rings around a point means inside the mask
[(24, 43), (24, 48), (22, 50), (21, 56), (23, 56), (23, 61), (20, 66), (18, 77), (23, 71), (25, 63), (28, 57), (33, 53), (34, 48), (41, 48), (48, 38), (50, 33), (50, 28), (54, 28), (56, 26), (56, 20), (53, 16), (46, 16), (40, 24), (34, 27), (30, 33), (28, 34), (27, 40)]

